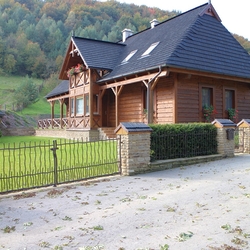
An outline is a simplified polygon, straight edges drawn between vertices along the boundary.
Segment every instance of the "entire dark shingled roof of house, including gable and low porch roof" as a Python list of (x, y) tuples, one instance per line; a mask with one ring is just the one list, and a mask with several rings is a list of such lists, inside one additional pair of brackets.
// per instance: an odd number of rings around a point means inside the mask
[[(215, 16), (203, 14), (207, 8)], [(86, 66), (109, 71), (99, 83), (159, 66), (250, 79), (250, 55), (222, 25), (208, 3), (132, 35), (124, 43), (79, 37), (72, 40)], [(142, 57), (156, 42), (159, 44), (150, 55)], [(134, 56), (122, 63), (135, 50)], [(67, 93), (68, 84), (61, 84), (46, 97)]]

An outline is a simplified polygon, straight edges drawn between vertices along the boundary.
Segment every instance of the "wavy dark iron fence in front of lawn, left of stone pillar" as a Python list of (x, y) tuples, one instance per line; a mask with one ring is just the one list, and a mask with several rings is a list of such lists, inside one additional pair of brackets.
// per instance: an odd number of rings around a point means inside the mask
[(120, 138), (0, 146), (0, 193), (120, 173)]

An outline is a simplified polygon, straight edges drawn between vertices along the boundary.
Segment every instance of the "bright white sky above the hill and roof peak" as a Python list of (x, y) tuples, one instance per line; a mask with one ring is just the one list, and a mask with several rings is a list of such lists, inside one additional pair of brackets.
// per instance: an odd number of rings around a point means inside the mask
[[(188, 11), (205, 4), (208, 0), (117, 0), (120, 3), (134, 3), (157, 7), (162, 10)], [(211, 0), (222, 24), (229, 32), (247, 38), (250, 41), (250, 1), (249, 0)]]

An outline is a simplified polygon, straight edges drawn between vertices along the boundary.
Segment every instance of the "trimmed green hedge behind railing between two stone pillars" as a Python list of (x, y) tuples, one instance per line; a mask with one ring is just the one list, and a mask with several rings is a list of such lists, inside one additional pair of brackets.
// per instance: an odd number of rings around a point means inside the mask
[(217, 154), (217, 129), (208, 123), (150, 125), (151, 161)]

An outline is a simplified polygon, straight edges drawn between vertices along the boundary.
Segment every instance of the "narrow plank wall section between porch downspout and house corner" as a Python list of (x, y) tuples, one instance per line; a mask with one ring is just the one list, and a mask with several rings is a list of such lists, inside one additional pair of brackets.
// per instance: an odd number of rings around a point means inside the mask
[(154, 93), (154, 122), (174, 123), (174, 76), (161, 78)]

